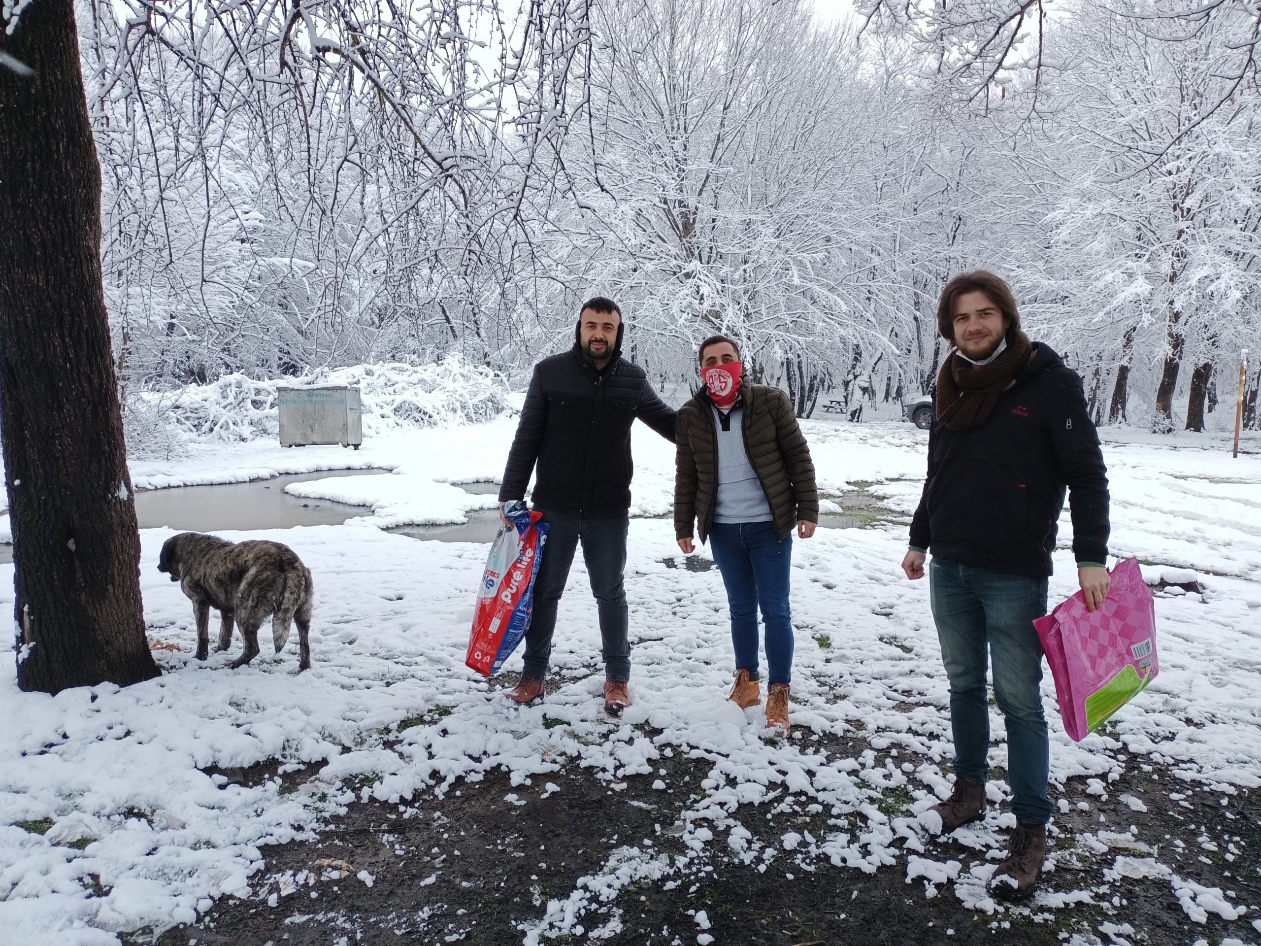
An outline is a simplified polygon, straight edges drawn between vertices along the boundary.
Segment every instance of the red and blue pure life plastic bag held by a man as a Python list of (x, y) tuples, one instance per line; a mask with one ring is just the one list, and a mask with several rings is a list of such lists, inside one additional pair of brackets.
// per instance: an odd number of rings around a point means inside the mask
[(538, 521), (542, 513), (531, 512), (520, 499), (503, 507), (503, 517), (509, 525), (499, 527), (487, 556), (464, 658), (484, 676), (497, 672), (526, 636), (547, 542), (547, 523)]

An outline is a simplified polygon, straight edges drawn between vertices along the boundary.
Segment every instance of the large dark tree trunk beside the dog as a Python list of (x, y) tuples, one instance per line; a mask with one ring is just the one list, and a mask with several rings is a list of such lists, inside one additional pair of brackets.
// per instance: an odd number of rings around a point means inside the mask
[(101, 288), (101, 172), (71, 0), (35, 0), (0, 52), (0, 438), (18, 685), (158, 675)]

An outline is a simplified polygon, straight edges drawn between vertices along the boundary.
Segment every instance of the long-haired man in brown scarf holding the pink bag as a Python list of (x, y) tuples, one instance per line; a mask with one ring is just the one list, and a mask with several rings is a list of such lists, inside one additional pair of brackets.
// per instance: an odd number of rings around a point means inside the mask
[(986, 812), (994, 695), (1006, 720), (1008, 783), (1016, 826), (990, 880), (996, 896), (1033, 892), (1047, 849), (1050, 743), (1042, 704), (1042, 645), (1055, 531), (1069, 494), (1073, 554), (1086, 603), (1108, 589), (1107, 470), (1081, 378), (1020, 330), (1008, 284), (977, 270), (942, 291), (938, 329), (953, 348), (942, 365), (928, 436), (928, 477), (902, 568), (929, 565), (929, 598), (950, 679), (955, 788), (933, 806), (950, 832)]

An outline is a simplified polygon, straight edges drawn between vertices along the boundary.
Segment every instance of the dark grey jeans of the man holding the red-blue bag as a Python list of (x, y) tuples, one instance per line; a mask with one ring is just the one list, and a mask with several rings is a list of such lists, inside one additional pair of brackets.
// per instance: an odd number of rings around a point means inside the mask
[(583, 544), (583, 561), (591, 580), (591, 594), (599, 605), (600, 656), (608, 680), (630, 679), (630, 638), (627, 595), (622, 575), (627, 565), (627, 531), (630, 516), (623, 512), (599, 518), (579, 518), (565, 512), (540, 510), (547, 523), (543, 561), (535, 579), (535, 608), (526, 631), (523, 677), (543, 680), (551, 657), (552, 632), (556, 629), (556, 607), (565, 593), (569, 569), (574, 564), (578, 544)]

